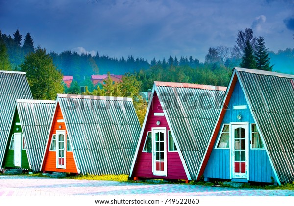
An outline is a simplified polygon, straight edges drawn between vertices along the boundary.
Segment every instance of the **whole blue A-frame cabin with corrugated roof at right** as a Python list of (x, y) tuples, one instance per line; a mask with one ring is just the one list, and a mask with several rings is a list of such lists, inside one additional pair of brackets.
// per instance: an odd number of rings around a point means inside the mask
[(294, 181), (294, 75), (234, 68), (197, 179)]

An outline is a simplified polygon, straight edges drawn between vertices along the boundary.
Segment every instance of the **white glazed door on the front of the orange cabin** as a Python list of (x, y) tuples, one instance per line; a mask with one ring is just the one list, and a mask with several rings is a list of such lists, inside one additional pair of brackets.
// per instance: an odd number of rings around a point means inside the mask
[(65, 130), (56, 130), (56, 168), (65, 169)]

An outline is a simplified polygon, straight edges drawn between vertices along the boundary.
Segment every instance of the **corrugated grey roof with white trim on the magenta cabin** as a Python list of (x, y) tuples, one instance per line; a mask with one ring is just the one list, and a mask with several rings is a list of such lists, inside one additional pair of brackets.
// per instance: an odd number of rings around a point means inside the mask
[(152, 98), (156, 92), (180, 158), (185, 162), (184, 168), (188, 170), (188, 179), (194, 180), (225, 90), (226, 87), (219, 86), (154, 82), (131, 172), (135, 166)]

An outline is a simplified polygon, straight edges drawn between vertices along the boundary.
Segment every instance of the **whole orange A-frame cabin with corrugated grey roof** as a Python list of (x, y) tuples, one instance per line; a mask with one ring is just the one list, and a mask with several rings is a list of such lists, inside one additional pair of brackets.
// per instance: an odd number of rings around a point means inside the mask
[(40, 171), (129, 174), (140, 131), (132, 98), (58, 94)]

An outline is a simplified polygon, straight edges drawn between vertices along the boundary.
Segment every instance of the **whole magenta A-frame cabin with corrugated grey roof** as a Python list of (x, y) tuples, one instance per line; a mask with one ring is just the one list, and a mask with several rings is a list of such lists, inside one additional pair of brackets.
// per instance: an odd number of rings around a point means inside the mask
[(225, 90), (154, 82), (129, 179), (195, 180)]

